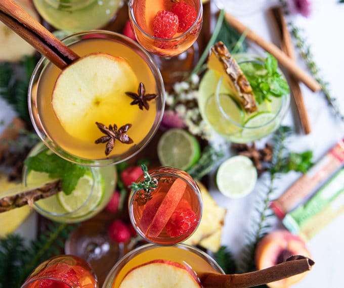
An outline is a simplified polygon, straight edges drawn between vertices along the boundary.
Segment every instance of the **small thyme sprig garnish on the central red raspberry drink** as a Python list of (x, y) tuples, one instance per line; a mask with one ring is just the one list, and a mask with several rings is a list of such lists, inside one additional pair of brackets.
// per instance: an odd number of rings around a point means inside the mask
[(148, 200), (152, 199), (152, 191), (158, 186), (158, 180), (149, 175), (148, 168), (145, 164), (141, 165), (141, 169), (144, 173), (144, 180), (139, 183), (133, 182), (132, 185), (129, 186), (132, 192), (137, 192), (135, 201), (137, 201), (140, 206), (145, 205)]

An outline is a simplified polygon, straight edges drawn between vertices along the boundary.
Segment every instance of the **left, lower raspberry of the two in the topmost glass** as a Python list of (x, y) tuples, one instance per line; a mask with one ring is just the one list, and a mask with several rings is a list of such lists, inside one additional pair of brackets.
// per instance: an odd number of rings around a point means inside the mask
[(160, 10), (153, 20), (154, 37), (170, 39), (176, 34), (179, 26), (178, 16), (167, 10)]

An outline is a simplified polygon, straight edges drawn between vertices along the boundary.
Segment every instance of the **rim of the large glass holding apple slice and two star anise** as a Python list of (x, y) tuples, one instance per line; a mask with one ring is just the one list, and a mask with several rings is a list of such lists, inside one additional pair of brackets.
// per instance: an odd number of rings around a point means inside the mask
[[(134, 145), (130, 150), (126, 151), (125, 153), (118, 155), (114, 158), (106, 158), (106, 159), (85, 159), (81, 158), (75, 155), (70, 154), (66, 150), (64, 150), (61, 146), (58, 145), (54, 140), (52, 140), (49, 136), (49, 133), (47, 133), (47, 130), (44, 125), (42, 125), (42, 121), (40, 120), (39, 114), (36, 115), (37, 120), (35, 119), (34, 112), (33, 112), (33, 106), (37, 104), (33, 104), (32, 102), (32, 90), (33, 90), (33, 83), (38, 82), (40, 75), (43, 73), (44, 69), (47, 67), (47, 65), (50, 63), (50, 61), (46, 57), (42, 57), (35, 69), (33, 70), (30, 83), (29, 83), (29, 89), (28, 89), (28, 109), (29, 109), (29, 115), (31, 119), (31, 123), (33, 125), (34, 130), (38, 134), (39, 138), (45, 143), (45, 145), (51, 149), (54, 153), (59, 155), (61, 158), (70, 161), (75, 164), (79, 165), (84, 165), (84, 166), (106, 166), (106, 165), (112, 165), (112, 164), (118, 164), (120, 162), (124, 162), (128, 159), (131, 159), (135, 155), (137, 155), (139, 152), (141, 152), (147, 144), (150, 142), (150, 140), (153, 138), (155, 135), (156, 131), (158, 130), (162, 116), (163, 116), (163, 111), (165, 108), (165, 88), (164, 88), (164, 83), (163, 79), (160, 73), (160, 70), (157, 68), (155, 62), (153, 61), (153, 58), (151, 55), (143, 49), (141, 45), (139, 45), (136, 41), (122, 35), (116, 32), (112, 31), (107, 31), (107, 30), (100, 30), (100, 29), (93, 29), (93, 30), (87, 30), (87, 31), (81, 31), (81, 32), (76, 32), (71, 35), (66, 36), (63, 38), (61, 41), (66, 41), (72, 38), (75, 38), (74, 42), (79, 42), (80, 39), (78, 37), (82, 35), (87, 35), (87, 34), (105, 34), (109, 35), (112, 37), (116, 37), (117, 39), (120, 39), (119, 41), (123, 44), (130, 44), (135, 47), (140, 52), (140, 57), (143, 58), (150, 68), (153, 77), (156, 82), (156, 87), (158, 89), (158, 92), (160, 92), (159, 99), (161, 102), (161, 108), (157, 111), (156, 117), (154, 119), (153, 125), (148, 132), (148, 134), (141, 140), (138, 145)], [(73, 43), (74, 43), (73, 42)], [(142, 55), (141, 55), (142, 54)], [(39, 121), (40, 127), (38, 127), (36, 121)], [(42, 134), (44, 133), (44, 134)], [(139, 148), (138, 148), (139, 147)], [(135, 150), (133, 153), (131, 151)]]

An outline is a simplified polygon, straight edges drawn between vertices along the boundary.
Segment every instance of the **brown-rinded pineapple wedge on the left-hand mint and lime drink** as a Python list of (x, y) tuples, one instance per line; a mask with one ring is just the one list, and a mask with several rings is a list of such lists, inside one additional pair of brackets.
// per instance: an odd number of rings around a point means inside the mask
[[(24, 188), (24, 187), (23, 187)], [(31, 206), (33, 202), (48, 198), (62, 190), (62, 180), (55, 180), (23, 193), (0, 199), (0, 213), (7, 212), (24, 205)]]

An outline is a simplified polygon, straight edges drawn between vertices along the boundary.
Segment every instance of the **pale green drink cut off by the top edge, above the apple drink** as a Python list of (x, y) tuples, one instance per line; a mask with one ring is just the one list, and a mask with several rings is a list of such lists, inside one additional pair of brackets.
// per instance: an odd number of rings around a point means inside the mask
[(60, 30), (78, 32), (108, 23), (120, 0), (33, 0), (39, 14)]

